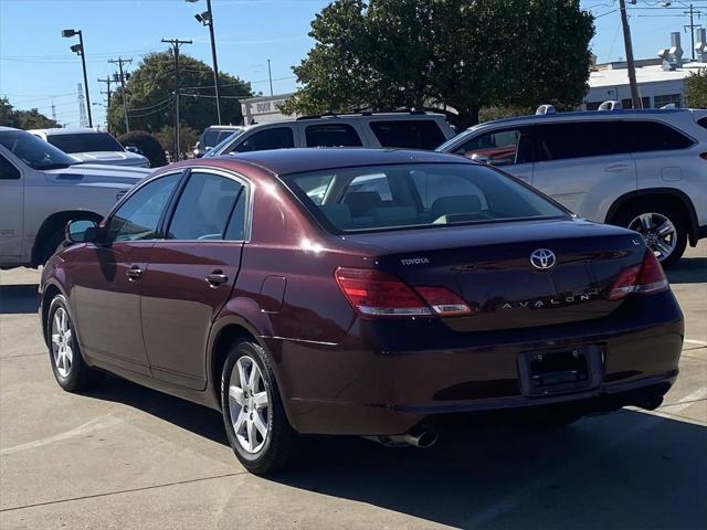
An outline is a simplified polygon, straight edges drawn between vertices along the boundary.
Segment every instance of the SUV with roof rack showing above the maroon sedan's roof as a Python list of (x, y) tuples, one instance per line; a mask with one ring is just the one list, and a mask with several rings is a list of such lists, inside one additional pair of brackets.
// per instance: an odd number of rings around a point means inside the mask
[(432, 150), (454, 135), (454, 129), (441, 114), (410, 112), (303, 116), (289, 121), (243, 127), (211, 149), (208, 156), (293, 147)]

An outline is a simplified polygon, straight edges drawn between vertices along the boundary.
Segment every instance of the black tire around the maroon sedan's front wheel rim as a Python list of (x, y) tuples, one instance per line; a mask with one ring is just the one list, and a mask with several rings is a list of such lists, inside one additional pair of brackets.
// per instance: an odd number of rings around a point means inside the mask
[[(66, 361), (62, 362), (61, 356), (55, 354), (56, 346), (52, 337), (54, 335), (54, 319), (60, 310), (63, 311), (60, 315), (65, 315), (67, 327), (71, 330), (71, 339), (66, 341), (71, 347), (71, 362), (67, 367), (65, 364)], [(49, 358), (59, 385), (66, 392), (81, 392), (98, 386), (105, 379), (105, 372), (91, 368), (86, 364), (86, 361), (84, 361), (81, 349), (78, 348), (78, 340), (71, 315), (68, 301), (64, 295), (56, 295), (50, 304), (49, 318), (46, 319)]]

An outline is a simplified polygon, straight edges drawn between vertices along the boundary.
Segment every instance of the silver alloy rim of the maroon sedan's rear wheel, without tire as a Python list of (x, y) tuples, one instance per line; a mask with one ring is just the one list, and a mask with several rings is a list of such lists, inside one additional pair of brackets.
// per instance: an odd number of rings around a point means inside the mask
[(249, 356), (241, 357), (229, 381), (229, 412), (235, 438), (243, 451), (255, 454), (270, 433), (270, 398), (263, 373)]

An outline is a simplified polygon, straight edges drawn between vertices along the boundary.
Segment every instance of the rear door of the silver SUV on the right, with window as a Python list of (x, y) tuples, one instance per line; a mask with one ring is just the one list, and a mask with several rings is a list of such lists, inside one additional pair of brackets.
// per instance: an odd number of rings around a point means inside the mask
[(535, 138), (532, 186), (583, 218), (603, 223), (599, 212), (637, 187), (621, 120), (541, 124)]

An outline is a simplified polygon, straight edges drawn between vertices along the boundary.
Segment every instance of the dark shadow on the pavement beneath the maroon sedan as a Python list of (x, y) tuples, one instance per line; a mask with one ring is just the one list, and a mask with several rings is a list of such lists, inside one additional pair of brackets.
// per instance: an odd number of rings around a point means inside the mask
[[(89, 395), (228, 445), (220, 413), (108, 375)], [(707, 428), (618, 411), (557, 430), (469, 417), (429, 449), (307, 436), (271, 480), (458, 528), (707, 528)], [(236, 466), (234, 460), (234, 466)]]

